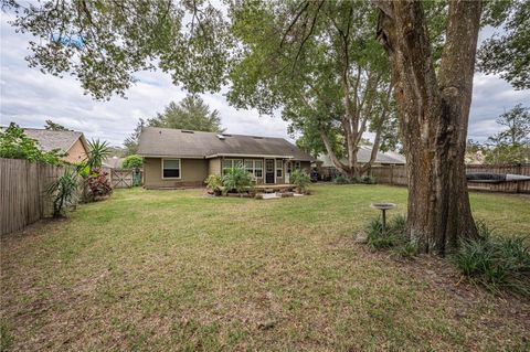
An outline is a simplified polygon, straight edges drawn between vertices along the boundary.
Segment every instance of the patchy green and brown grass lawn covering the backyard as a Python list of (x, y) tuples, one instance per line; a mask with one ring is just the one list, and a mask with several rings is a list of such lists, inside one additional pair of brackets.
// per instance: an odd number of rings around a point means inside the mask
[[(300, 199), (120, 190), (1, 241), (11, 350), (527, 350), (530, 299), (354, 234), (406, 190), (317, 185)], [(530, 198), (471, 194), (476, 218), (530, 233)]]

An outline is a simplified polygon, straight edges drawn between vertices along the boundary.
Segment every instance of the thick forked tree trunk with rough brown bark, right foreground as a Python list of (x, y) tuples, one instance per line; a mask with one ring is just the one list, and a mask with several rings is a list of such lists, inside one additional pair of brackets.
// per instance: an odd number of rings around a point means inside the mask
[(464, 153), (480, 23), (479, 1), (449, 2), (436, 76), (421, 1), (374, 1), (389, 53), (407, 158), (407, 232), (420, 250), (444, 255), (477, 236)]

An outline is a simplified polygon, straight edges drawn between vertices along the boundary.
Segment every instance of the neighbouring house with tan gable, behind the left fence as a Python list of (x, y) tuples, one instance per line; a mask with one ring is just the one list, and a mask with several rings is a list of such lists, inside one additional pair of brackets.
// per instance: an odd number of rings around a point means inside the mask
[(43, 151), (59, 149), (66, 153), (63, 160), (70, 163), (83, 161), (88, 153), (88, 143), (83, 132), (24, 128), (24, 134), (35, 140)]

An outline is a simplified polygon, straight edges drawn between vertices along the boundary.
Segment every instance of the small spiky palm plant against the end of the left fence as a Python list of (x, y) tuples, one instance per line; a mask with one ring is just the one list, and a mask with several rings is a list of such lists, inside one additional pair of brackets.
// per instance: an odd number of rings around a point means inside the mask
[(61, 217), (64, 207), (77, 201), (77, 172), (66, 167), (63, 175), (53, 181), (47, 188), (47, 194), (53, 198), (53, 217)]

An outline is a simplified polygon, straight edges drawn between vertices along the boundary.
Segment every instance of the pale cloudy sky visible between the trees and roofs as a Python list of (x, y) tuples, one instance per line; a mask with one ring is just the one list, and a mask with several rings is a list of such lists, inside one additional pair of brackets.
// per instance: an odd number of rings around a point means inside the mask
[[(0, 12), (0, 126), (11, 121), (21, 127), (42, 128), (52, 119), (70, 129), (83, 131), (88, 139), (108, 140), (121, 146), (139, 118), (162, 111), (171, 100), (179, 102), (186, 92), (161, 72), (142, 72), (126, 92), (126, 98), (93, 100), (72, 76), (63, 78), (30, 68), (24, 57), (30, 53), (31, 36), (15, 33), (8, 23), (12, 18)], [(481, 38), (489, 35), (488, 31)], [(216, 109), (226, 132), (292, 138), (288, 124), (278, 116), (259, 116), (256, 110), (235, 109), (223, 93), (204, 94), (204, 102)], [(530, 105), (530, 90), (513, 90), (496, 76), (477, 73), (474, 79), (468, 138), (484, 141), (499, 131), (495, 119), (516, 104)]]

